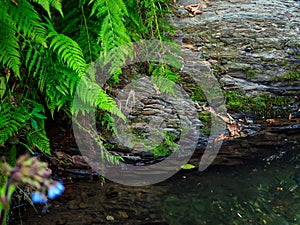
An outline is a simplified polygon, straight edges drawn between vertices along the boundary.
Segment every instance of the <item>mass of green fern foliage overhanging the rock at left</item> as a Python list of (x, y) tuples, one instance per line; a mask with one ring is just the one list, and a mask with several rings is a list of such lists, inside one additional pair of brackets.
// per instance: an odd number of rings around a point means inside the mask
[[(124, 119), (95, 74), (86, 73), (88, 65), (104, 58), (118, 82), (126, 60), (134, 57), (132, 41), (158, 38), (160, 45), (153, 50), (164, 52), (168, 11), (164, 0), (1, 1), (0, 146), (21, 144), (50, 154), (45, 120), (56, 111), (76, 115), (97, 109)], [(163, 91), (171, 91), (178, 79), (172, 72), (176, 66), (167, 65), (170, 54), (162, 55), (149, 73), (166, 78), (169, 88)], [(113, 121), (105, 119), (112, 128)]]

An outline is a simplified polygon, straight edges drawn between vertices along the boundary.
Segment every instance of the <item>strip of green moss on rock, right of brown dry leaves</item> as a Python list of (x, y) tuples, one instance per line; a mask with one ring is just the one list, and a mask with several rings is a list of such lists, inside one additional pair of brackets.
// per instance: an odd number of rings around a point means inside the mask
[(237, 91), (226, 93), (226, 105), (229, 109), (254, 113), (263, 118), (286, 117), (289, 114), (287, 107), (291, 101), (291, 97), (271, 96), (270, 94), (249, 98)]

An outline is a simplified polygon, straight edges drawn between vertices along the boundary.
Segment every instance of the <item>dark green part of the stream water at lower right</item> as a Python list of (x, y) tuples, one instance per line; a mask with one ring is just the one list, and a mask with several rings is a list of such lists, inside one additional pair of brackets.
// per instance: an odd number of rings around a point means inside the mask
[(182, 181), (162, 199), (168, 224), (300, 224), (295, 161), (219, 169)]

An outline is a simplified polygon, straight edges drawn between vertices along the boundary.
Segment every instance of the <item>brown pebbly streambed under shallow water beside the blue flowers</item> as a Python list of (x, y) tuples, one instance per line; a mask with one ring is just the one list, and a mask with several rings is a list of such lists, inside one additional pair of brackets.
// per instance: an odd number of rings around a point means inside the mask
[(115, 183), (64, 182), (64, 196), (44, 208), (29, 207), (10, 224), (24, 225), (167, 225), (159, 210), (162, 188)]

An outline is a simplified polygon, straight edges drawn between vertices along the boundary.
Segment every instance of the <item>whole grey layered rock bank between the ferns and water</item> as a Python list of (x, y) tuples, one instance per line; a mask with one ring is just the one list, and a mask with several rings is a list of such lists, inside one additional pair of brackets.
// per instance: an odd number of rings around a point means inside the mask
[[(193, 15), (185, 9), (194, 3), (199, 4), (202, 13)], [(299, 13), (299, 1), (294, 0), (177, 1), (171, 18), (175, 34), (171, 38), (182, 49), (181, 84), (176, 87), (175, 96), (166, 95), (149, 77), (125, 71), (112, 91), (128, 118), (126, 124), (117, 121), (118, 138), (109, 140), (115, 144), (115, 153), (128, 163), (153, 163), (153, 155), (145, 151), (149, 146), (155, 148), (157, 143), (164, 145), (168, 132), (175, 142), (183, 140), (179, 147), (186, 151), (181, 153), (190, 154), (196, 147), (199, 128), (209, 126), (209, 122), (204, 124), (198, 119), (197, 113), (205, 111), (201, 105), (209, 105), (216, 114), (226, 117), (223, 90), (240, 91), (250, 98), (262, 94), (286, 96), (289, 104), (283, 107), (292, 117), (299, 117)], [(292, 81), (294, 78), (289, 74), (298, 78)], [(199, 104), (191, 101), (197, 88), (206, 98)], [(213, 138), (219, 138), (223, 132), (225, 138), (214, 164), (233, 165), (254, 157), (276, 157), (287, 149), (299, 148), (297, 119), (253, 122), (243, 114), (231, 115), (242, 129), (237, 136), (230, 137), (226, 124), (221, 124)], [(212, 114), (210, 117), (213, 118)], [(216, 121), (210, 123), (216, 125)], [(190, 129), (188, 133), (185, 128)], [(198, 164), (207, 141), (208, 136), (200, 134), (194, 164)], [(63, 148), (65, 152), (70, 146)], [(70, 155), (73, 154), (72, 151)]]

